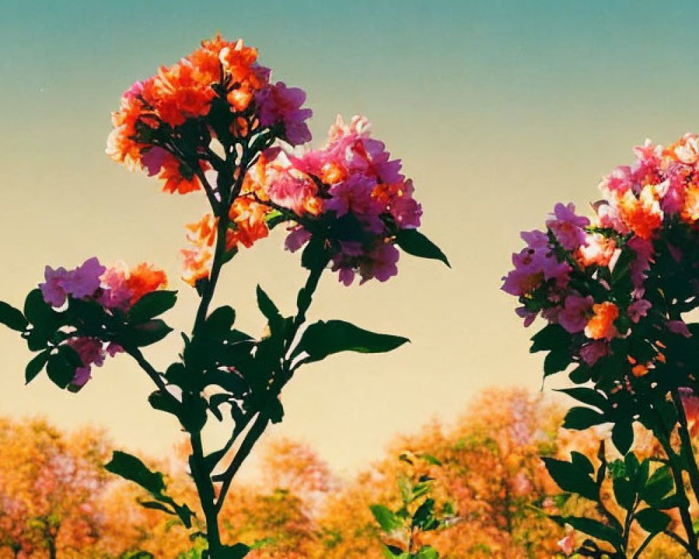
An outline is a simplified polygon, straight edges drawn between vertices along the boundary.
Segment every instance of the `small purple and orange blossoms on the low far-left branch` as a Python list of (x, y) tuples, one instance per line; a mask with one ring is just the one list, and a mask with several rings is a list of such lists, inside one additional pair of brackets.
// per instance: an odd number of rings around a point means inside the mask
[[(87, 259), (73, 270), (53, 269), (46, 266), (45, 282), (39, 284), (46, 303), (57, 309), (73, 300), (93, 301), (108, 313), (128, 312), (143, 297), (167, 284), (162, 270), (156, 270), (146, 263), (129, 268), (123, 263), (107, 268), (98, 259)], [(69, 333), (64, 341), (80, 357), (81, 367), (75, 369), (71, 381), (72, 389), (80, 389), (91, 378), (92, 365), (100, 367), (106, 355), (115, 356), (122, 350), (119, 344), (101, 340), (95, 335)]]

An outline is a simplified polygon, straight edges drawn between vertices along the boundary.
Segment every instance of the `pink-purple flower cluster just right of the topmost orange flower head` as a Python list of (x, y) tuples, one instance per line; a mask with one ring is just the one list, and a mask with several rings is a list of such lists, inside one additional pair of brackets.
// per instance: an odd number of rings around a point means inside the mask
[(323, 235), (332, 245), (333, 270), (345, 285), (356, 273), (361, 283), (396, 275), (396, 234), (417, 228), (422, 215), (401, 161), (391, 159), (369, 130), (364, 117), (347, 125), (338, 116), (325, 147), (300, 157), (282, 154), (268, 168), (264, 184), (275, 205), (297, 216), (287, 249)]

